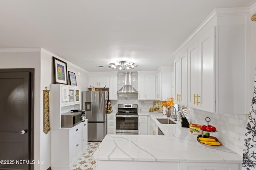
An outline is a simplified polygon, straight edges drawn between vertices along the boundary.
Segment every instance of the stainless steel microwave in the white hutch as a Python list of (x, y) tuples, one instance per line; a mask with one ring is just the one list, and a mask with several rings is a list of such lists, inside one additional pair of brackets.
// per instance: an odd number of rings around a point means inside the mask
[(74, 127), (82, 122), (82, 112), (68, 112), (61, 114), (61, 127)]

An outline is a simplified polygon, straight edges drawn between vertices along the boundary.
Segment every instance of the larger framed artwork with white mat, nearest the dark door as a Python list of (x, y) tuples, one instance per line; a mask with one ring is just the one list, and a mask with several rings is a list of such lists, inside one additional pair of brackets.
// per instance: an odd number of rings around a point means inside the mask
[(55, 83), (68, 84), (67, 63), (53, 57)]

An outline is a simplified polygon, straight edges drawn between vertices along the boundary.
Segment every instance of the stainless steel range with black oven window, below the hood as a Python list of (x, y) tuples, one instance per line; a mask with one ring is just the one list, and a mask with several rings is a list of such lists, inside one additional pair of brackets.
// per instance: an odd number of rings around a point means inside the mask
[(116, 113), (117, 135), (138, 135), (138, 105), (118, 104)]

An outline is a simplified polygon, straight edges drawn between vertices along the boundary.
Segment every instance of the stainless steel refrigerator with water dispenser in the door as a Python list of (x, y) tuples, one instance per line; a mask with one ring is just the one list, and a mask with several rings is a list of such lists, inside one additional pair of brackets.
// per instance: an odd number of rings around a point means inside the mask
[(102, 141), (106, 136), (107, 91), (83, 91), (83, 109), (88, 119), (88, 141)]

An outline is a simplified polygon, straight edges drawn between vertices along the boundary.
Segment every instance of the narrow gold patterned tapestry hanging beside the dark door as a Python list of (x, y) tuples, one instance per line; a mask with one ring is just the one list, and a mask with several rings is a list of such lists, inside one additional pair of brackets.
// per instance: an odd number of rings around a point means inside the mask
[(50, 127), (50, 90), (43, 90), (44, 93), (44, 133), (48, 133), (51, 129)]

